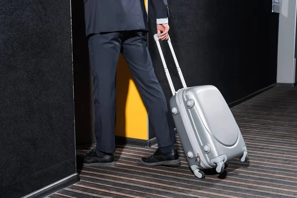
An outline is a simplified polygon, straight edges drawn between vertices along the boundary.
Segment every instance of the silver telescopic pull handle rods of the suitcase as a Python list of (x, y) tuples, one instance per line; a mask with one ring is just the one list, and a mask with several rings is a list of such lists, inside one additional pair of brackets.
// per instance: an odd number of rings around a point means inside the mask
[[(167, 77), (167, 80), (168, 80), (168, 83), (169, 83), (169, 86), (170, 86), (170, 90), (172, 92), (172, 95), (174, 96), (175, 95), (175, 89), (174, 89), (174, 85), (172, 83), (172, 80), (171, 80), (171, 77), (170, 77), (166, 62), (165, 62), (165, 58), (164, 58), (164, 55), (163, 55), (163, 52), (162, 52), (162, 49), (161, 49), (161, 46), (160, 46), (160, 43), (159, 43), (159, 37), (160, 36), (161, 36), (161, 34), (155, 34), (155, 35), (153, 35), (153, 38), (154, 38), (154, 40), (155, 40), (155, 42), (157, 44), (157, 47), (158, 47), (158, 50), (159, 50), (159, 53), (160, 53), (160, 56), (161, 56), (161, 60), (162, 60), (163, 66), (164, 66), (164, 71), (165, 71), (165, 74), (166, 74), (166, 77)], [(169, 48), (171, 50), (171, 53), (172, 53), (172, 56), (173, 56), (173, 59), (174, 59), (175, 65), (176, 65), (176, 69), (177, 69), (178, 75), (179, 75), (179, 77), (181, 79), (183, 88), (186, 88), (187, 85), (186, 85), (183, 73), (182, 73), (182, 71), (180, 69), (180, 66), (178, 64), (176, 55), (174, 53), (170, 37), (168, 38), (167, 42), (168, 42)]]

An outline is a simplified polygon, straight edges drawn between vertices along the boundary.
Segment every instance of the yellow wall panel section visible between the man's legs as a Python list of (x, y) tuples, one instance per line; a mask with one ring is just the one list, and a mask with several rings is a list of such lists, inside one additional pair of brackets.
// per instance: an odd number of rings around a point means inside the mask
[(122, 54), (116, 76), (116, 112), (115, 135), (148, 140), (147, 110)]

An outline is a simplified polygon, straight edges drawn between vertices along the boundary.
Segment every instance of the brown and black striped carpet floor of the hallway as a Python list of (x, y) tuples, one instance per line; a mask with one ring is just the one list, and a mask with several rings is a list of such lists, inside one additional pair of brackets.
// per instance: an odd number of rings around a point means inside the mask
[(49, 198), (297, 198), (297, 88), (276, 87), (231, 110), (249, 156), (222, 175), (196, 178), (177, 137), (179, 167), (141, 164), (156, 147), (118, 145), (114, 167), (78, 169), (81, 181)]

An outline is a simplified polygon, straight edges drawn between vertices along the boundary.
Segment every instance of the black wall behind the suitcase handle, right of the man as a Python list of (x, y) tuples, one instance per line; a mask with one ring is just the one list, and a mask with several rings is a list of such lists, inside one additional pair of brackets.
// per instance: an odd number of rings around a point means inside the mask
[[(170, 37), (189, 87), (216, 86), (228, 103), (276, 83), (278, 14), (271, 0), (168, 0)], [(167, 99), (171, 97), (158, 50), (151, 3), (148, 49)], [(175, 88), (181, 88), (166, 42), (161, 42)], [(150, 130), (150, 138), (154, 137)]]

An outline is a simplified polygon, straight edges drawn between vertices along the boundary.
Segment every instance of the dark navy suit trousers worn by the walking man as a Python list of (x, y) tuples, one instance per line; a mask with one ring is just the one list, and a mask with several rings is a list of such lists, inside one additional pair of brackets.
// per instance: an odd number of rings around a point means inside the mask
[(120, 53), (128, 63), (146, 106), (158, 147), (173, 145), (175, 133), (164, 93), (154, 73), (145, 33), (100, 33), (91, 35), (88, 42), (94, 85), (96, 148), (107, 153), (115, 151), (115, 81)]

